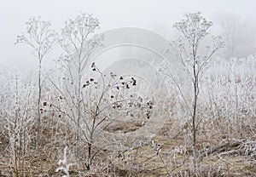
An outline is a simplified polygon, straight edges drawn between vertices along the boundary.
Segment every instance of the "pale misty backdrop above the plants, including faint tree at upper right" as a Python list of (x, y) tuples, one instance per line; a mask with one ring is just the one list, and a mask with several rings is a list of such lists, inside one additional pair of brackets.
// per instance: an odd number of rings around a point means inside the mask
[[(226, 41), (222, 52), (227, 57), (246, 57), (256, 52), (256, 3), (253, 0), (9, 0), (0, 6), (0, 70), (16, 67), (27, 73), (37, 70), (38, 60), (26, 45), (15, 45), (16, 37), (26, 31), (26, 21), (32, 16), (50, 20), (52, 28), (60, 31), (67, 19), (80, 12), (94, 14), (101, 22), (103, 32), (121, 27), (138, 27), (155, 31), (174, 40), (177, 33), (172, 25), (183, 19), (186, 12), (201, 11), (212, 20), (212, 34), (221, 35)], [(44, 68), (55, 66), (61, 54), (59, 47), (44, 59)]]

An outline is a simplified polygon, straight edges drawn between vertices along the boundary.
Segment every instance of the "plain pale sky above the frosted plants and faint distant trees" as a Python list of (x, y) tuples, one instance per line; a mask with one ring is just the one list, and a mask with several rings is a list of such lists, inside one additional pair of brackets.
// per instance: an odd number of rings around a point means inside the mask
[[(0, 69), (16, 66), (27, 71), (37, 66), (28, 46), (15, 45), (16, 36), (26, 30), (25, 22), (32, 16), (40, 15), (60, 30), (65, 20), (87, 12), (101, 21), (101, 31), (132, 26), (166, 36), (185, 12), (201, 11), (210, 20), (217, 14), (236, 14), (255, 21), (255, 7), (255, 0), (2, 0)], [(45, 65), (57, 55), (51, 54)]]

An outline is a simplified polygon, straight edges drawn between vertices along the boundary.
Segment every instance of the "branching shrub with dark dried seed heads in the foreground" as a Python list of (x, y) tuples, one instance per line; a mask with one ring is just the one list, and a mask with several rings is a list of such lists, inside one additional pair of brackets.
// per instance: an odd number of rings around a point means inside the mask
[[(97, 140), (111, 123), (117, 121), (119, 117), (133, 116), (136, 111), (143, 111), (144, 117), (149, 118), (153, 109), (152, 101), (143, 100), (141, 96), (133, 93), (127, 94), (126, 90), (137, 85), (134, 77), (118, 77), (113, 72), (109, 73), (108, 77), (96, 67), (95, 63), (92, 63), (91, 70), (92, 74), (81, 86), (80, 110), (75, 105), (77, 100), (73, 99), (74, 93), (66, 93), (65, 89), (62, 90), (56, 83), (53, 84), (60, 94), (59, 105), (48, 104), (50, 111), (60, 112), (61, 117), (67, 117), (79, 128), (80, 138), (87, 144), (85, 163), (87, 169), (90, 169), (98, 152), (93, 151)], [(65, 87), (72, 85), (72, 81), (67, 77), (62, 77), (61, 82)], [(78, 122), (76, 117), (79, 111), (81, 119)], [(80, 145), (83, 142), (78, 143)]]

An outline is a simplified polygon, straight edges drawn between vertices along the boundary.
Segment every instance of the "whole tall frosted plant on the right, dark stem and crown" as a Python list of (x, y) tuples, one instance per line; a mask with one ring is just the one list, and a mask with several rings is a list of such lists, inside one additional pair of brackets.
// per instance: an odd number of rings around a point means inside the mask
[[(198, 96), (200, 93), (200, 84), (202, 75), (207, 69), (207, 63), (211, 60), (212, 55), (224, 47), (221, 37), (212, 37), (212, 47), (205, 46), (205, 52), (201, 52), (202, 41), (209, 34), (207, 31), (212, 26), (212, 21), (209, 21), (201, 16), (200, 12), (186, 14), (185, 19), (175, 23), (174, 27), (181, 33), (181, 36), (171, 43), (171, 48), (167, 52), (175, 54), (183, 65), (184, 70), (187, 72), (191, 83), (193, 84), (193, 103), (192, 106), (187, 104), (190, 117), (192, 118), (192, 131), (193, 131), (193, 154), (194, 154), (194, 167), (196, 169), (196, 111)], [(172, 77), (168, 72), (171, 66), (165, 66), (162, 71), (167, 77)], [(172, 78), (173, 79), (173, 78)], [(175, 83), (177, 80), (175, 80)], [(180, 87), (177, 84), (177, 87)], [(182, 92), (182, 89), (178, 89)], [(181, 93), (183, 94), (183, 93)], [(188, 99), (183, 94), (183, 100), (188, 103)]]

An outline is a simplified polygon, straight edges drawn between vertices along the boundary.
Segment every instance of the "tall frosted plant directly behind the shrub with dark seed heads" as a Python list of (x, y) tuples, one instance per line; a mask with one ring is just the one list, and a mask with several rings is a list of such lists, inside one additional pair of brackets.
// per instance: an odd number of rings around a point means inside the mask
[[(63, 84), (62, 91), (66, 89), (69, 95), (69, 104), (75, 107), (75, 122), (80, 124), (83, 105), (82, 86), (84, 74), (89, 66), (91, 54), (102, 46), (102, 36), (95, 35), (100, 28), (100, 22), (92, 14), (79, 14), (74, 20), (67, 20), (61, 30), (59, 44), (64, 51), (58, 63), (63, 71), (63, 77), (67, 77), (72, 84)], [(80, 130), (77, 126), (76, 139), (80, 139)]]

